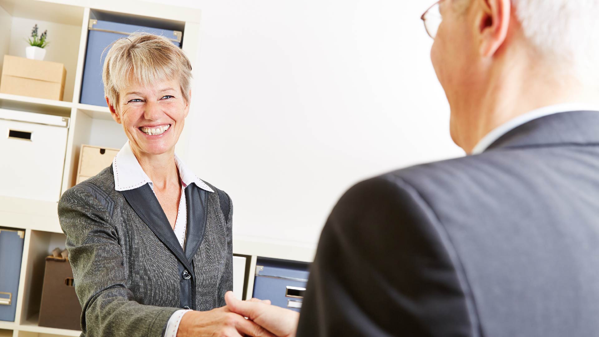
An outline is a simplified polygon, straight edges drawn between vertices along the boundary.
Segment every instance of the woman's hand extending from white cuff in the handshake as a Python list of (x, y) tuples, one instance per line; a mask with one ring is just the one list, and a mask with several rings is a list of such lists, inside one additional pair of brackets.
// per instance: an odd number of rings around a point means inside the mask
[(231, 312), (227, 306), (210, 311), (187, 311), (181, 322), (177, 337), (275, 337), (253, 321)]

